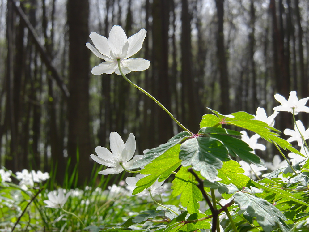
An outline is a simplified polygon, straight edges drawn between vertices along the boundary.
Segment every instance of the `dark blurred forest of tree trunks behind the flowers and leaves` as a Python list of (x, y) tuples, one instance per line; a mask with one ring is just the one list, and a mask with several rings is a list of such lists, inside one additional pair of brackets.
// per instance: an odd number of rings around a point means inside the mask
[[(137, 154), (180, 132), (121, 76), (91, 74), (103, 60), (86, 47), (89, 34), (108, 37), (113, 25), (128, 37), (147, 30), (135, 57), (150, 68), (127, 77), (193, 132), (206, 107), (270, 115), (275, 93), (309, 96), (307, 0), (0, 0), (2, 166), (53, 169), (61, 183), (70, 158), (82, 184), (110, 132), (133, 133)], [(282, 115), (275, 127), (292, 129)]]

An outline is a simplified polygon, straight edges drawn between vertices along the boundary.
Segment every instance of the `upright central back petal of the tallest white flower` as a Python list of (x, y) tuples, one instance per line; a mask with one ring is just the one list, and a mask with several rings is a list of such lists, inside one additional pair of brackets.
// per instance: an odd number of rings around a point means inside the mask
[(121, 54), (123, 54), (122, 49), (127, 41), (127, 35), (125, 34), (121, 26), (113, 26), (112, 30), (109, 32), (108, 46), (111, 49), (112, 53), (118, 58), (125, 58), (121, 57)]

